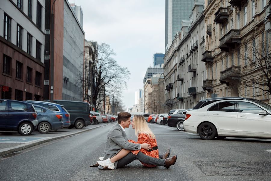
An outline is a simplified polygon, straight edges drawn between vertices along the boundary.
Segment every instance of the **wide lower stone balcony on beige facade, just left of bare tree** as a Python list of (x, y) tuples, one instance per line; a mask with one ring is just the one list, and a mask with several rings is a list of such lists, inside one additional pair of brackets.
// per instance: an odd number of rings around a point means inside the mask
[(222, 84), (228, 84), (228, 82), (232, 82), (236, 80), (240, 81), (240, 74), (241, 74), (241, 67), (232, 65), (232, 67), (226, 68), (226, 70), (223, 70), (220, 72), (219, 81)]

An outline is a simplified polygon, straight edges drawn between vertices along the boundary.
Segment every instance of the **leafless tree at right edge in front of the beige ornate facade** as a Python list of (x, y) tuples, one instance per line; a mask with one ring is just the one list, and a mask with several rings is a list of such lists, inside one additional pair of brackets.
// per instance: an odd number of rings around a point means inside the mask
[[(262, 95), (271, 95), (271, 44), (270, 40), (250, 37), (237, 53), (241, 89), (252, 87), (260, 89)], [(236, 74), (238, 74), (236, 72)], [(255, 92), (254, 92), (255, 94)]]

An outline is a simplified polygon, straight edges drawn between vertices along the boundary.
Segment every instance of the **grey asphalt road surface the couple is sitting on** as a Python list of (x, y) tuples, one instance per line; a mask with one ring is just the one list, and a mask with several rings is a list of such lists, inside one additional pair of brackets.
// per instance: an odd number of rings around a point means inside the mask
[[(0, 180), (271, 180), (271, 140), (204, 141), (196, 134), (148, 124), (157, 137), (159, 152), (170, 147), (171, 156), (178, 155), (176, 164), (169, 169), (143, 167), (138, 160), (116, 170), (89, 167), (102, 156), (107, 132), (112, 127), (107, 125), (0, 158)], [(126, 134), (137, 140), (131, 127)]]

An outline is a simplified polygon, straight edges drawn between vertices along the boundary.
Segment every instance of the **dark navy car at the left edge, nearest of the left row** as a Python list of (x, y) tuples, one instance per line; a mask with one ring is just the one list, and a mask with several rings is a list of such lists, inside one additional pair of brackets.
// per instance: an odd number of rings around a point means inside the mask
[(32, 104), (0, 99), (0, 130), (30, 135), (37, 128), (37, 112)]

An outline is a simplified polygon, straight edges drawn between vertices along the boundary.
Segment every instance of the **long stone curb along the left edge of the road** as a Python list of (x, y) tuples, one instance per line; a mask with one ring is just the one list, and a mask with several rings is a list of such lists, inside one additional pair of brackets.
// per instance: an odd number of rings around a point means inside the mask
[[(109, 123), (107, 125), (111, 125), (111, 124), (114, 124), (114, 122)], [(67, 135), (55, 136), (55, 137), (52, 137), (52, 138), (45, 138), (45, 139), (42, 139), (42, 140), (39, 140), (39, 141), (31, 141), (30, 143), (21, 144), (19, 146), (14, 146), (14, 147), (11, 147), (11, 148), (4, 148), (4, 149), (0, 150), (0, 157), (2, 157), (4, 155), (7, 155), (7, 154), (11, 154), (11, 153), (17, 152), (17, 151), (24, 150), (26, 148), (30, 148), (30, 147), (36, 146), (36, 145), (39, 145), (39, 144), (42, 144), (42, 143), (46, 143), (46, 142), (49, 142), (49, 141), (53, 141), (53, 140), (65, 138), (65, 137), (71, 136), (71, 135), (76, 135), (78, 133), (90, 131), (90, 130), (96, 129), (96, 128), (101, 128), (101, 127), (107, 126), (107, 125), (101, 125), (101, 126), (97, 126), (95, 128), (84, 129), (82, 131), (73, 132), (73, 133), (70, 133), (70, 134), (67, 134)]]

